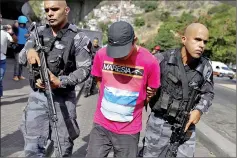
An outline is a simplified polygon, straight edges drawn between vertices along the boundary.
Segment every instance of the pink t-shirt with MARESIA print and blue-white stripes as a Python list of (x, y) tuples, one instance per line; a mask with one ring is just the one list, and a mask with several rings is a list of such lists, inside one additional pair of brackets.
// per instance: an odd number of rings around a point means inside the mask
[(117, 134), (136, 134), (142, 129), (142, 109), (147, 86), (160, 86), (160, 67), (145, 48), (126, 60), (110, 58), (106, 47), (94, 58), (92, 75), (101, 77), (94, 122)]

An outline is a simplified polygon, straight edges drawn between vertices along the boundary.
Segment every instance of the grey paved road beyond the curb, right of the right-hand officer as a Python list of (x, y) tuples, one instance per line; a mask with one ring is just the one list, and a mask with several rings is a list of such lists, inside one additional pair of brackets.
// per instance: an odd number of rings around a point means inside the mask
[(236, 80), (214, 78), (213, 105), (202, 120), (236, 144)]

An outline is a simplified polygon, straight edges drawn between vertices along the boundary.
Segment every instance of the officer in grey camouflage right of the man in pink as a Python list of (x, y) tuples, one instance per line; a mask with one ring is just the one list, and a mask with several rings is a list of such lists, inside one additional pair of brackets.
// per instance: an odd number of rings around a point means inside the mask
[[(186, 124), (187, 141), (178, 148), (177, 157), (193, 157), (195, 152), (195, 124), (208, 111), (214, 97), (213, 72), (209, 60), (202, 57), (208, 29), (200, 23), (190, 24), (182, 36), (183, 47), (166, 51), (159, 56), (161, 87), (149, 102), (152, 112), (147, 121), (144, 157), (162, 157), (169, 144), (172, 123), (192, 89), (199, 88), (200, 98), (190, 112)], [(147, 91), (148, 95), (154, 94)]]

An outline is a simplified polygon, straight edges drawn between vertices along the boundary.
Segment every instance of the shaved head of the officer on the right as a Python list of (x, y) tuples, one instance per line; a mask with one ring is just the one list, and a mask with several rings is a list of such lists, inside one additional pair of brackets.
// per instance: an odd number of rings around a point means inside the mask
[(193, 58), (200, 58), (209, 37), (208, 29), (200, 23), (192, 23), (182, 36), (183, 50)]

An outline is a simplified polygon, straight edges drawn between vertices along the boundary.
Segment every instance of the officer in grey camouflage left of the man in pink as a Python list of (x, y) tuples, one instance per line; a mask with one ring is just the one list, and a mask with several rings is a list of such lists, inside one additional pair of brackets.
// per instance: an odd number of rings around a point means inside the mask
[[(75, 85), (84, 82), (91, 68), (91, 42), (89, 38), (72, 24), (68, 23), (69, 7), (66, 1), (44, 1), (44, 9), (49, 25), (38, 27), (47, 48), (45, 56), (53, 99), (58, 117), (57, 128), (62, 156), (72, 155), (73, 140), (79, 136), (76, 121)], [(31, 33), (25, 47), (20, 52), (21, 64), (40, 64), (38, 53), (34, 49), (35, 35)], [(48, 156), (47, 142), (55, 142), (52, 122), (49, 117), (48, 102), (44, 94), (44, 85), (38, 79), (30, 79), (33, 92), (23, 113), (21, 131), (25, 140), (25, 156)], [(35, 83), (35, 84), (34, 84)], [(35, 87), (36, 85), (36, 87)], [(53, 141), (51, 141), (53, 140)], [(58, 150), (55, 150), (59, 156)]]

